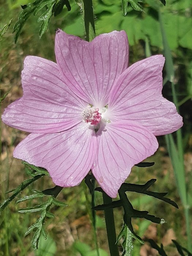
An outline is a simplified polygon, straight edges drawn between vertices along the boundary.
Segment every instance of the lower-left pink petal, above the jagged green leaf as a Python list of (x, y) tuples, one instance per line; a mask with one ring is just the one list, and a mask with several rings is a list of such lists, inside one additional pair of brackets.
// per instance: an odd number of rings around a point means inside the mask
[(48, 170), (61, 187), (78, 185), (89, 172), (97, 151), (93, 130), (86, 124), (59, 133), (30, 134), (14, 150), (14, 157)]

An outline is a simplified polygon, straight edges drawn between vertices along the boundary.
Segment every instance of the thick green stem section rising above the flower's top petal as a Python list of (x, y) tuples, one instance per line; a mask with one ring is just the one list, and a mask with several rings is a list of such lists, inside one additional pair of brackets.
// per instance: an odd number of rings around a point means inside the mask
[(95, 38), (95, 24), (92, 0), (82, 0), (86, 40), (88, 42)]

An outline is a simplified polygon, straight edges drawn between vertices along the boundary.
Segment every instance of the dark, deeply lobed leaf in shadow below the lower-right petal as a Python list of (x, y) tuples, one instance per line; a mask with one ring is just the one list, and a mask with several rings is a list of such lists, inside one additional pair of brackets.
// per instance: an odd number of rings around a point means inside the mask
[[(148, 165), (149, 163), (147, 163)], [(177, 204), (173, 202), (172, 200), (168, 199), (165, 197), (167, 193), (158, 193), (158, 192), (152, 192), (148, 191), (148, 188), (155, 182), (155, 179), (152, 179), (144, 185), (138, 185), (138, 184), (130, 184), (130, 183), (123, 183), (121, 185), (121, 188), (119, 189), (118, 193), (120, 196), (120, 200), (113, 201), (111, 203), (106, 203), (102, 205), (98, 205), (94, 207), (94, 210), (106, 210), (110, 208), (115, 208), (115, 207), (120, 207), (123, 206), (124, 209), (124, 226), (123, 229), (121, 230), (119, 236), (118, 236), (118, 241), (121, 238), (124, 238), (123, 241), (123, 248), (124, 252), (123, 255), (125, 256), (130, 256), (131, 252), (133, 250), (133, 244), (132, 244), (132, 239), (136, 239), (140, 243), (143, 243), (142, 239), (135, 233), (133, 230), (132, 226), (132, 218), (144, 218), (146, 220), (149, 220), (154, 223), (160, 223), (164, 224), (165, 220), (162, 218), (155, 217), (154, 215), (148, 214), (148, 211), (138, 211), (135, 210), (129, 201), (127, 195), (125, 192), (127, 191), (132, 191), (132, 192), (137, 192), (137, 193), (142, 193), (146, 194), (148, 196), (153, 196), (157, 199), (163, 200), (166, 203), (171, 204), (172, 206), (178, 208)], [(96, 191), (103, 192), (101, 188), (96, 188)]]

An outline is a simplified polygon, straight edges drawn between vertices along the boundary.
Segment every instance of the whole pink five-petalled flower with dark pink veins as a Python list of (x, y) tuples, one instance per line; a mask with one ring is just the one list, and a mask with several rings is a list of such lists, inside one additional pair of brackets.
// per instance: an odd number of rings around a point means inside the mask
[(28, 56), (23, 97), (4, 123), (30, 132), (14, 157), (44, 167), (61, 187), (78, 185), (91, 169), (116, 197), (136, 163), (154, 154), (155, 136), (176, 131), (182, 117), (162, 97), (162, 55), (128, 67), (125, 31), (92, 42), (57, 30), (57, 64)]

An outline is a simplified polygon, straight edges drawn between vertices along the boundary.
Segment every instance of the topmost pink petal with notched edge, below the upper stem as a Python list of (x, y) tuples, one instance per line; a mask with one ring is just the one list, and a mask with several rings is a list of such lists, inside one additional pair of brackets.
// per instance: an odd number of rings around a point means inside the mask
[(128, 66), (128, 39), (125, 31), (113, 31), (86, 42), (57, 30), (55, 53), (60, 71), (74, 93), (103, 107), (114, 81)]

